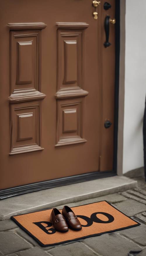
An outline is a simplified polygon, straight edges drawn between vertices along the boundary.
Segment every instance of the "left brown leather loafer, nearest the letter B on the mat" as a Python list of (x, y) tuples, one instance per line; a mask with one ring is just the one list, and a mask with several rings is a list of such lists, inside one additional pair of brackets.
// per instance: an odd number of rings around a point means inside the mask
[(58, 211), (58, 209), (53, 208), (50, 216), (50, 220), (52, 224), (54, 225), (54, 228), (60, 232), (66, 232), (68, 231), (68, 226), (65, 221), (65, 218), (63, 215)]

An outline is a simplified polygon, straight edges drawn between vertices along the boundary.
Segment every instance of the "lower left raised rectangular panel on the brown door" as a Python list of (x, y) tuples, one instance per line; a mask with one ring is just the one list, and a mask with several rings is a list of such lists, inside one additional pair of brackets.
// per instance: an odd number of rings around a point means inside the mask
[(10, 155), (43, 150), (40, 134), (40, 101), (11, 104)]

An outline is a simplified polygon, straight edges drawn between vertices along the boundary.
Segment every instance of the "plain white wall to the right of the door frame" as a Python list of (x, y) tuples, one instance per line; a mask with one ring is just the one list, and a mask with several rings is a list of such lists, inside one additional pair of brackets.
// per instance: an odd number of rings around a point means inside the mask
[(145, 13), (145, 0), (126, 0), (123, 173), (144, 165), (142, 119), (146, 95)]

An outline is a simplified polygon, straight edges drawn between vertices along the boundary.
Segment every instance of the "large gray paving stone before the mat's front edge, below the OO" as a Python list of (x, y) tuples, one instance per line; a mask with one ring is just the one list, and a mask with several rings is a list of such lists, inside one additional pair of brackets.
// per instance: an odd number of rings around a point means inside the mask
[(84, 243), (103, 256), (127, 256), (131, 250), (139, 250), (137, 245), (116, 233), (86, 238)]

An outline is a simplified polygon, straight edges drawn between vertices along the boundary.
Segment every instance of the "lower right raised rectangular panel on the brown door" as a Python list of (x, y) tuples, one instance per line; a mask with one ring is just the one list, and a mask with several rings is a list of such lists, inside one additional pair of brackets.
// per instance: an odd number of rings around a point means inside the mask
[(83, 138), (83, 98), (57, 101), (56, 147), (86, 142)]

